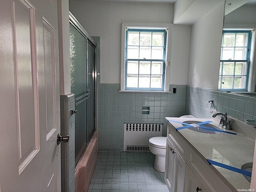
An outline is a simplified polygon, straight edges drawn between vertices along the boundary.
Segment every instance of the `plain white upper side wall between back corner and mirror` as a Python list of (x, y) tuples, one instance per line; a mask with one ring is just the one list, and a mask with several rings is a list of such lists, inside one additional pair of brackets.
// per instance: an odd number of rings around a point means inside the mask
[(191, 28), (188, 85), (218, 88), (224, 2)]

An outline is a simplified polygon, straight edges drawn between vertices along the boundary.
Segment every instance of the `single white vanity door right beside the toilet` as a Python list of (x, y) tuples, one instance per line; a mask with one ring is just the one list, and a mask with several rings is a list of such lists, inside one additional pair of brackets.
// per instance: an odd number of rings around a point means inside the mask
[(167, 138), (166, 144), (166, 162), (165, 162), (165, 182), (170, 192), (174, 192), (174, 154), (172, 151), (174, 150), (174, 146)]

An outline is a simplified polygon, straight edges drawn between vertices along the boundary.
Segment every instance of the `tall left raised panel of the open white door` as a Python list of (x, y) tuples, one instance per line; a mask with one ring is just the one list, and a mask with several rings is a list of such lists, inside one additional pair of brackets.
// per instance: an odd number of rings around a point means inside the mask
[[(39, 107), (36, 70), (35, 12), (26, 2), (13, 4), (14, 70), (18, 123), (19, 173), (38, 153)], [(28, 35), (24, 35), (28, 34)], [(34, 86), (35, 85), (35, 86)], [(30, 134), (28, 134), (30, 133)]]

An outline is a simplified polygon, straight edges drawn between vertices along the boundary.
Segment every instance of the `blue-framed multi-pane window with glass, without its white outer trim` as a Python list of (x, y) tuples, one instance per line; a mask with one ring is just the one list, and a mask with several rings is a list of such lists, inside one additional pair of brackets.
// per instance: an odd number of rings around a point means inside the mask
[(126, 30), (125, 90), (164, 90), (166, 30)]

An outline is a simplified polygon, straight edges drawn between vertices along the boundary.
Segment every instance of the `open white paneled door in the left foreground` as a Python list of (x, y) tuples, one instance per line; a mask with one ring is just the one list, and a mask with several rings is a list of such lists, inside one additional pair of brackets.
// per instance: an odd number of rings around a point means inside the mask
[(0, 0), (0, 192), (60, 192), (57, 0)]

